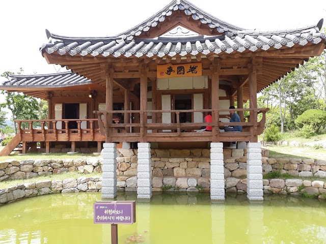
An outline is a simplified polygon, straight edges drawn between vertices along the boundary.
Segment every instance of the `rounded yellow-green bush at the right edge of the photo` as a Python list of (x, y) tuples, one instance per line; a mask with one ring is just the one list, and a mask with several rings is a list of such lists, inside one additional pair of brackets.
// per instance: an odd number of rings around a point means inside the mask
[(303, 114), (297, 116), (295, 125), (301, 128), (304, 125), (310, 125), (315, 133), (318, 133), (320, 128), (326, 124), (326, 112), (319, 109), (308, 109)]

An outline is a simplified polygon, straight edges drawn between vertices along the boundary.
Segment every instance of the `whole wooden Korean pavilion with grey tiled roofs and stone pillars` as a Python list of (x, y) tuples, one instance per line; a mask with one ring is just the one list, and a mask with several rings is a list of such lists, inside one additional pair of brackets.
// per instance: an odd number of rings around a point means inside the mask
[[(116, 36), (67, 37), (46, 31), (48, 42), (40, 51), (47, 63), (73, 73), (11, 75), (0, 89), (48, 100), (48, 120), (41, 121), (41, 129), (33, 129), (29, 121), (30, 129), (19, 130), (17, 141), (25, 149), (27, 143), (41, 141), (47, 152), (58, 142), (69, 142), (72, 149), (76, 143), (97, 142), (100, 150), (105, 141), (105, 160), (114, 162), (113, 142), (127, 147), (140, 142), (139, 172), (148, 172), (150, 148), (210, 147), (213, 167), (220, 160), (221, 142), (250, 142), (248, 150), (260, 148), (257, 136), (267, 109), (257, 108), (257, 93), (321, 54), (326, 44), (322, 23), (260, 32), (174, 0)], [(250, 108), (243, 109), (248, 99)], [(235, 101), (241, 122), (229, 123), (226, 115)], [(248, 119), (243, 111), (250, 112)], [(203, 123), (208, 112), (212, 123)], [(242, 132), (220, 130), (232, 125), (241, 125)], [(203, 126), (212, 126), (212, 131), (197, 132)], [(113, 185), (105, 186), (103, 194), (114, 196)], [(139, 197), (151, 196), (147, 185), (139, 187)], [(219, 194), (211, 190), (212, 196)]]

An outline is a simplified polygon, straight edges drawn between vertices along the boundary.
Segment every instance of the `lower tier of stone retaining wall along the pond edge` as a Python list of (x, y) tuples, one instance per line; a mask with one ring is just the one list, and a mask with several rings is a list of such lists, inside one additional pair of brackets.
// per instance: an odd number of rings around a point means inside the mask
[[(137, 182), (137, 181), (136, 181)], [(228, 194), (242, 194), (246, 191), (246, 179), (240, 180), (233, 177), (226, 179), (226, 192)], [(301, 180), (301, 179), (271, 179), (263, 180), (264, 195), (278, 193), (279, 195), (301, 195), (304, 192), (326, 199), (326, 183), (324, 181)], [(71, 192), (98, 192), (102, 189), (102, 177), (79, 177), (65, 180), (42, 180), (29, 182), (7, 189), (0, 189), (0, 205), (15, 200), (46, 195), (51, 193)], [(193, 191), (198, 191), (194, 188)], [(173, 190), (173, 189), (170, 189)], [(173, 190), (174, 191), (174, 190)]]

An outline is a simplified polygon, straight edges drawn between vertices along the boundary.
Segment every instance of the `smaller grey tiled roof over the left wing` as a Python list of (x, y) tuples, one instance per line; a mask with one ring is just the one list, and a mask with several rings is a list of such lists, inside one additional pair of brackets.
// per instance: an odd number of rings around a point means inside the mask
[(9, 80), (3, 86), (21, 87), (65, 87), (74, 85), (85, 85), (93, 83), (92, 80), (84, 78), (70, 71), (45, 75), (13, 75), (8, 74)]

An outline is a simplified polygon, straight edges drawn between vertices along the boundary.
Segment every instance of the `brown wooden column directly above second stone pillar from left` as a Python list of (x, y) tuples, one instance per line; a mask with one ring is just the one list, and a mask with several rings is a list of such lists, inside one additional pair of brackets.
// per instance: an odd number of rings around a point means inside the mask
[[(147, 71), (145, 65), (140, 66), (140, 85), (141, 85), (141, 98), (140, 98), (140, 110), (144, 111), (147, 110)], [(141, 127), (141, 136), (142, 141), (146, 142), (146, 124), (147, 124), (147, 113), (141, 114), (141, 125), (144, 125), (144, 127)]]

